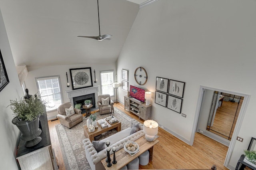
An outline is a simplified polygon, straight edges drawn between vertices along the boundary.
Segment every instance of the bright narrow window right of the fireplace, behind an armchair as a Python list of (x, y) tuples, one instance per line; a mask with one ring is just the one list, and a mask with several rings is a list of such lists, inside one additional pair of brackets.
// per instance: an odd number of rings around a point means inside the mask
[(100, 72), (101, 90), (102, 94), (114, 95), (113, 82), (114, 70)]

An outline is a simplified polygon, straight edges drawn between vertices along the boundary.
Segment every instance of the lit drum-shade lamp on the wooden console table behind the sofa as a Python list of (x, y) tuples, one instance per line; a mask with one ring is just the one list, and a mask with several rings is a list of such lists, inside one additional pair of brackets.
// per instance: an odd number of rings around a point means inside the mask
[(149, 142), (153, 141), (155, 135), (158, 133), (158, 123), (152, 120), (144, 121), (143, 131), (145, 133), (145, 138)]

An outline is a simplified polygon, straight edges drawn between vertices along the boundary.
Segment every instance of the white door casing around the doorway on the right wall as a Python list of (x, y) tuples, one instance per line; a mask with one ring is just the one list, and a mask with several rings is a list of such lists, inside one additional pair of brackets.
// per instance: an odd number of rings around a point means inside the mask
[(203, 96), (204, 89), (209, 89), (209, 90), (214, 90), (214, 91), (221, 91), (221, 92), (224, 92), (224, 93), (229, 93), (229, 94), (232, 94), (232, 95), (238, 95), (238, 96), (244, 97), (244, 101), (243, 101), (242, 107), (240, 109), (240, 113), (239, 113), (239, 116), (238, 116), (238, 119), (237, 119), (237, 122), (236, 122), (236, 126), (235, 126), (235, 129), (234, 129), (234, 132), (233, 132), (233, 137), (230, 141), (230, 145), (228, 147), (228, 152), (226, 154), (226, 159), (225, 159), (225, 162), (224, 162), (224, 166), (229, 167), (228, 162), (230, 160), (231, 153), (232, 153), (232, 151), (234, 149), (234, 146), (235, 146), (235, 143), (236, 143), (236, 137), (234, 137), (234, 136), (238, 135), (238, 132), (239, 132), (240, 127), (242, 125), (242, 121), (244, 119), (244, 114), (245, 114), (247, 105), (249, 103), (250, 95), (200, 85), (199, 94), (198, 94), (198, 101), (197, 101), (197, 105), (196, 105), (196, 113), (195, 113), (195, 118), (194, 118), (194, 123), (193, 123), (193, 128), (192, 128), (192, 135), (191, 135), (190, 143), (189, 143), (190, 145), (192, 145), (193, 142), (194, 142), (194, 137), (195, 137), (195, 133), (196, 133), (196, 127), (197, 127), (197, 123), (198, 123), (198, 117), (199, 117), (199, 113), (200, 113), (200, 108), (201, 108), (202, 96)]

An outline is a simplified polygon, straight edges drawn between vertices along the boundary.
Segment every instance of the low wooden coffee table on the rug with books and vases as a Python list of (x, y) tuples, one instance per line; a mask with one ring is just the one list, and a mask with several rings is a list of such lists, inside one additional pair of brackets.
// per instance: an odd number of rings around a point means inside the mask
[(98, 124), (98, 122), (97, 122), (98, 128), (95, 129), (94, 132), (89, 132), (87, 125), (84, 125), (84, 126), (83, 126), (83, 128), (84, 128), (84, 136), (85, 136), (86, 138), (89, 138), (90, 141), (92, 142), (92, 140), (94, 140), (94, 137), (95, 137), (95, 136), (98, 136), (98, 135), (102, 134), (103, 132), (109, 131), (109, 130), (114, 129), (114, 128), (115, 128), (116, 131), (118, 131), (118, 132), (121, 131), (121, 122), (117, 122), (117, 123), (110, 124), (110, 123), (108, 123), (108, 122), (106, 121), (106, 123), (107, 123), (108, 127), (102, 128), (102, 127)]

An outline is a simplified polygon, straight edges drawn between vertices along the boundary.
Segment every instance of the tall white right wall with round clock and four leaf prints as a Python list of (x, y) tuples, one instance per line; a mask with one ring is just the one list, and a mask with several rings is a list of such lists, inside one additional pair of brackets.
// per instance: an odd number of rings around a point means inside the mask
[[(229, 162), (237, 160), (256, 137), (256, 1), (159, 0), (138, 12), (117, 61), (129, 71), (129, 85), (136, 85), (134, 70), (144, 67), (153, 92), (152, 112), (166, 130), (185, 142), (192, 127), (200, 85), (250, 94), (250, 101)], [(182, 113), (154, 103), (156, 76), (186, 82)], [(126, 92), (120, 90), (121, 102)], [(253, 127), (254, 126), (254, 127)]]

